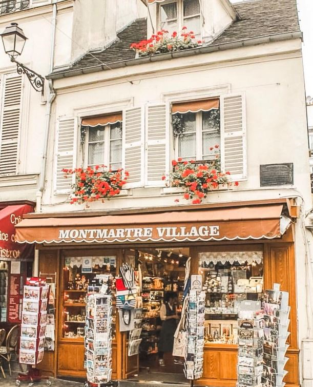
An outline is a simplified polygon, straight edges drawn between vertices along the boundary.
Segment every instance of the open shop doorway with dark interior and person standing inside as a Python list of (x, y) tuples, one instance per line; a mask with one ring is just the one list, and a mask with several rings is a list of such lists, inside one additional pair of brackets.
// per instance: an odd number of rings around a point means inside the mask
[[(142, 275), (142, 341), (139, 372), (132, 378), (186, 382), (182, 358), (172, 355), (172, 343), (181, 314), (189, 248), (143, 248), (137, 256)], [(171, 314), (173, 318), (166, 317)]]

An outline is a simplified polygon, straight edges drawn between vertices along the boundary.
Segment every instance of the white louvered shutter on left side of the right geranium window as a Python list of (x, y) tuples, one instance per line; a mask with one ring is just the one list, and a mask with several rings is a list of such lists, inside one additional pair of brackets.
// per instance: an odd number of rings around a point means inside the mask
[(145, 185), (163, 186), (167, 172), (169, 125), (165, 104), (148, 105), (145, 119)]

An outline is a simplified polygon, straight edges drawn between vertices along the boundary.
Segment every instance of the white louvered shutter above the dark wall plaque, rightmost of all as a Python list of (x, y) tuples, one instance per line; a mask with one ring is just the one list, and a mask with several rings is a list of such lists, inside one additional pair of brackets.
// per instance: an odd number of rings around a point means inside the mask
[(220, 98), (221, 109), (221, 164), (231, 172), (233, 180), (247, 176), (246, 117), (243, 94)]

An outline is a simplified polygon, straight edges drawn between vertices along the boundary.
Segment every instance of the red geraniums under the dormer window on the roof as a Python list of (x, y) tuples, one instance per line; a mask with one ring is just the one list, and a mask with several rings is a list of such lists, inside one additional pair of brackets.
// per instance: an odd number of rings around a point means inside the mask
[(135, 50), (139, 56), (149, 56), (163, 54), (166, 52), (175, 52), (196, 48), (202, 45), (202, 41), (197, 40), (193, 31), (186, 32), (186, 27), (182, 28), (181, 33), (174, 31), (161, 30), (153, 34), (150, 39), (139, 43), (132, 43), (130, 48)]

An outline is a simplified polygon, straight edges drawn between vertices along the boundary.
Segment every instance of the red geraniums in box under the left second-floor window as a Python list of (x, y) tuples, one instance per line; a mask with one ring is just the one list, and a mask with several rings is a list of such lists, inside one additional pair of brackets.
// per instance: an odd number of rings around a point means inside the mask
[(87, 167), (86, 169), (62, 169), (66, 178), (75, 175), (71, 204), (103, 201), (120, 193), (127, 182), (129, 173), (123, 172), (122, 169), (112, 171), (105, 168), (105, 165), (96, 165), (94, 168)]

